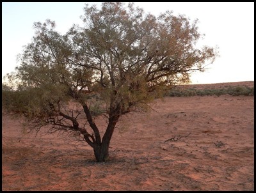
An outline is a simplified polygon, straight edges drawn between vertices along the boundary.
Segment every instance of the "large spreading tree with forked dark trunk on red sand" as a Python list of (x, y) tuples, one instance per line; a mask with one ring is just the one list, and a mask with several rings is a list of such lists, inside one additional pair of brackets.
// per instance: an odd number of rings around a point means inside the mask
[[(217, 54), (207, 46), (196, 49), (202, 36), (197, 20), (169, 11), (155, 17), (132, 3), (104, 2), (100, 10), (86, 4), (83, 21), (65, 35), (51, 20), (35, 22), (32, 42), (8, 75), (17, 89), (8, 90), (3, 107), (22, 114), (29, 131), (51, 125), (49, 133), (83, 137), (104, 162), (120, 116), (189, 82), (191, 72), (204, 71)], [(103, 136), (95, 123), (99, 115), (107, 120)]]

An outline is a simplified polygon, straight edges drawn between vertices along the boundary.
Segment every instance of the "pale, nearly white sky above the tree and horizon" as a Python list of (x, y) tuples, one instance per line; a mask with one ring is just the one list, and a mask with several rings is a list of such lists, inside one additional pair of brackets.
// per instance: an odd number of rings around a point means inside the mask
[[(88, 3), (97, 4), (101, 3)], [(199, 20), (198, 29), (205, 34), (199, 45), (219, 47), (220, 57), (208, 66), (206, 72), (191, 76), (193, 84), (254, 81), (254, 2), (136, 2), (145, 12), (159, 15), (172, 10)], [(2, 3), (2, 78), (19, 65), (17, 54), (31, 42), (34, 22), (51, 19), (56, 30), (67, 32), (72, 24), (83, 25), (84, 3)]]

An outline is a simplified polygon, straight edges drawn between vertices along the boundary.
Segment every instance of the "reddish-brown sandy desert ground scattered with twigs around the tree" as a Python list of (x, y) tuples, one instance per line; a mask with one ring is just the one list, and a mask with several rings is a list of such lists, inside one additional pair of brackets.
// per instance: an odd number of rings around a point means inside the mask
[(254, 190), (254, 96), (151, 106), (122, 117), (104, 163), (83, 141), (24, 134), (19, 118), (2, 116), (2, 190)]

